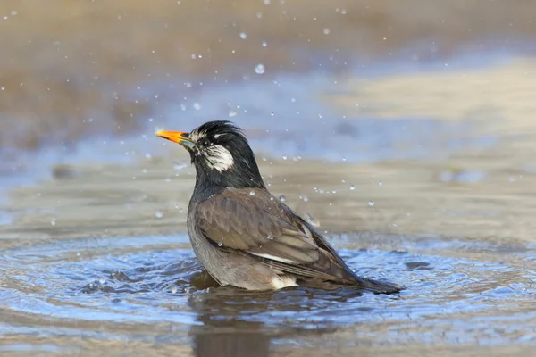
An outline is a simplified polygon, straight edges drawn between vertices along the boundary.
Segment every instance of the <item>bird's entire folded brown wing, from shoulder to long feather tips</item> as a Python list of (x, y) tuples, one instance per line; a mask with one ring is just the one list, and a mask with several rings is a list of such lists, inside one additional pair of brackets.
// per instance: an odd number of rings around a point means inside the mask
[(265, 190), (227, 188), (199, 203), (196, 212), (197, 227), (222, 249), (304, 277), (355, 282), (331, 246)]

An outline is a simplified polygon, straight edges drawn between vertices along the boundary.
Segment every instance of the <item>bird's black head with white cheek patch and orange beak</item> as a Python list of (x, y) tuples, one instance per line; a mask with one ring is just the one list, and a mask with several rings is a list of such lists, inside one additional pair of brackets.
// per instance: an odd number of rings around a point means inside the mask
[(208, 121), (192, 131), (158, 131), (188, 150), (196, 166), (197, 185), (264, 187), (255, 154), (242, 129), (230, 121)]

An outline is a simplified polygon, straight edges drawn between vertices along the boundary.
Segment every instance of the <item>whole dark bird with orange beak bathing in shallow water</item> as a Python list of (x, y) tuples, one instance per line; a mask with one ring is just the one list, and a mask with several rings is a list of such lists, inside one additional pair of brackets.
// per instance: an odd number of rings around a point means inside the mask
[(325, 237), (273, 196), (243, 129), (233, 122), (208, 121), (190, 132), (155, 135), (188, 150), (196, 170), (188, 235), (197, 260), (220, 286), (352, 287), (388, 295), (405, 288), (357, 276)]

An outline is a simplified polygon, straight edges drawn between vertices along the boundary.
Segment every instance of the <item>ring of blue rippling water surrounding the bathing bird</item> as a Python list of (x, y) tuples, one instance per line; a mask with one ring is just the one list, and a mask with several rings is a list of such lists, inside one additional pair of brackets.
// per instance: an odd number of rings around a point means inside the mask
[[(371, 238), (370, 249), (358, 249)], [(24, 316), (27, 324), (46, 319), (40, 335), (90, 336), (98, 326), (105, 333), (101, 339), (130, 343), (157, 333), (170, 343), (195, 345), (222, 328), (230, 328), (228, 340), (254, 328), (257, 338), (272, 343), (298, 331), (335, 336), (351, 331), (355, 335), (347, 345), (359, 339), (374, 345), (417, 339), (424, 344), (536, 343), (533, 250), (471, 240), (446, 244), (445, 237), (433, 236), (347, 234), (330, 240), (347, 246), (340, 253), (360, 274), (390, 278), (407, 289), (400, 295), (299, 287), (237, 291), (215, 287), (185, 236), (77, 238), (4, 251), (3, 333), (26, 335), (21, 325), (5, 324)], [(406, 242), (407, 250), (379, 249), (393, 241)], [(486, 253), (479, 260), (456, 257), (474, 251)], [(271, 336), (276, 331), (283, 337)]]

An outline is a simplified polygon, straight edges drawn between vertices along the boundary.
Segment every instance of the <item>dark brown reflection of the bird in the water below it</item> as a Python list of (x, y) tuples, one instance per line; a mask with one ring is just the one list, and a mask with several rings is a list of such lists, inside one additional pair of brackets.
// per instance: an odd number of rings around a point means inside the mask
[[(303, 295), (303, 302), (278, 306), (277, 296), (286, 295), (287, 291), (295, 290)], [(270, 355), (272, 339), (281, 337), (296, 338), (299, 336), (321, 335), (334, 332), (337, 328), (306, 328), (264, 323), (259, 320), (247, 320), (248, 316), (266, 311), (282, 309), (287, 314), (307, 314), (311, 310), (306, 301), (314, 299), (314, 291), (300, 288), (289, 288), (280, 292), (247, 292), (234, 287), (217, 287), (210, 294), (200, 299), (190, 297), (188, 306), (197, 312), (200, 324), (192, 325), (190, 335), (198, 357), (264, 357)], [(337, 296), (336, 292), (331, 295)], [(357, 295), (360, 295), (357, 293)], [(346, 298), (339, 296), (339, 300)], [(272, 326), (271, 326), (272, 325)]]

